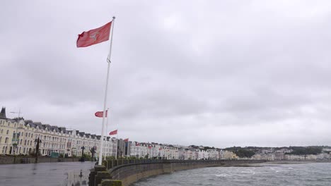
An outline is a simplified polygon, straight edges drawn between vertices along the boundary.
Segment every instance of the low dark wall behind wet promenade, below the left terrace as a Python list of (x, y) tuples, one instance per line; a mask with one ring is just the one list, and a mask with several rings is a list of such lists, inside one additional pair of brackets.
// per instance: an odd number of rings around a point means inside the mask
[[(47, 158), (38, 157), (37, 163), (46, 162), (69, 162), (69, 161), (79, 161), (78, 158)], [(35, 157), (24, 157), (24, 156), (0, 156), (0, 164), (13, 164), (13, 163), (36, 163)]]

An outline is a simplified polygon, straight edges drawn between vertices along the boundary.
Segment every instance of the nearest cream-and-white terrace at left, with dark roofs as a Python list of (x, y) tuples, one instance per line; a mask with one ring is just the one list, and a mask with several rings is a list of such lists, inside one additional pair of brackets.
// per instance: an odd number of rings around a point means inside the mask
[[(57, 126), (24, 120), (23, 118), (6, 118), (6, 109), (0, 113), (0, 154), (30, 154), (35, 151), (37, 139), (40, 139), (40, 154), (50, 156), (52, 152), (68, 156), (91, 155), (91, 149), (96, 149), (98, 157), (100, 136), (91, 135), (79, 130), (66, 130)], [(104, 145), (105, 156), (115, 156), (116, 140), (107, 137)]]

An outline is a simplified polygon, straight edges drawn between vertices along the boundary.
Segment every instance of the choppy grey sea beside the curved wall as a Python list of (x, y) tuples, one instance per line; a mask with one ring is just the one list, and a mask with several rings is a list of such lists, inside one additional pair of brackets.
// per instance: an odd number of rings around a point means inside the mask
[(169, 185), (315, 185), (331, 186), (331, 163), (262, 164), (256, 167), (211, 167), (158, 175), (134, 186)]

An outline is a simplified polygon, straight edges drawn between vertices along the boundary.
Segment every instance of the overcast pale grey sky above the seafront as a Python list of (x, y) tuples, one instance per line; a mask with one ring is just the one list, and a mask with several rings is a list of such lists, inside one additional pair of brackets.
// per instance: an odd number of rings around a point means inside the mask
[(100, 135), (214, 147), (331, 145), (331, 1), (3, 1), (0, 106)]

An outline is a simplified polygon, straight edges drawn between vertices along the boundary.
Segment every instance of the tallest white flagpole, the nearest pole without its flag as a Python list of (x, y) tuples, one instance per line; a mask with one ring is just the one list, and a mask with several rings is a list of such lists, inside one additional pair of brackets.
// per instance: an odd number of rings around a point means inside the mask
[(100, 138), (100, 154), (99, 154), (99, 163), (98, 165), (101, 166), (103, 161), (103, 135), (105, 130), (105, 107), (107, 102), (107, 91), (108, 91), (108, 79), (109, 79), (109, 68), (110, 68), (110, 55), (112, 54), (112, 32), (114, 31), (114, 24), (115, 23), (115, 16), (112, 17), (112, 30), (110, 32), (110, 47), (109, 47), (109, 54), (107, 58), (108, 68), (107, 68), (107, 80), (106, 80), (106, 87), (105, 87), (105, 101), (103, 101), (103, 127), (101, 129), (101, 138)]

